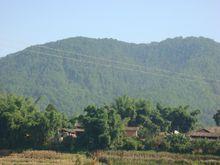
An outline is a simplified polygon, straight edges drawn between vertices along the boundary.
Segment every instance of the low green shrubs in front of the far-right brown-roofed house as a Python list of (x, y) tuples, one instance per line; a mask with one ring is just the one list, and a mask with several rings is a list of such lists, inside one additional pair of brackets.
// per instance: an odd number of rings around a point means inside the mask
[(146, 139), (143, 145), (147, 150), (220, 155), (219, 140), (190, 140), (189, 137), (183, 134), (155, 136), (151, 139)]

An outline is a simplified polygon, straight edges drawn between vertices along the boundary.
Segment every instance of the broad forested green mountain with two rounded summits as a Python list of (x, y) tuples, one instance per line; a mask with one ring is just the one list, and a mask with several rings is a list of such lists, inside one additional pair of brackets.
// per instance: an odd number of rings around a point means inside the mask
[(41, 97), (68, 114), (121, 95), (202, 110), (213, 124), (220, 107), (220, 43), (177, 37), (149, 44), (68, 38), (0, 59), (0, 92)]

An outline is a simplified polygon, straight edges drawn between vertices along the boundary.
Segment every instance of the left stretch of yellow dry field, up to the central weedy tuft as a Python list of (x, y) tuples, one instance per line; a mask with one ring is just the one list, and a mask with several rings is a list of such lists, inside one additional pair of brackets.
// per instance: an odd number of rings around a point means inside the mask
[(82, 154), (59, 153), (55, 151), (24, 151), (21, 153), (11, 153), (8, 156), (0, 157), (2, 165), (51, 165), (51, 164), (74, 164), (91, 165), (97, 164), (93, 159)]

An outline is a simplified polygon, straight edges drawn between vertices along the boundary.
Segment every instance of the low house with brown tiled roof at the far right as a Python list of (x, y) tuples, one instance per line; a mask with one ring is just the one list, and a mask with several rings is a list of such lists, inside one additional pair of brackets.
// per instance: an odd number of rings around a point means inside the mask
[(203, 128), (191, 131), (187, 135), (193, 139), (220, 140), (220, 127)]

